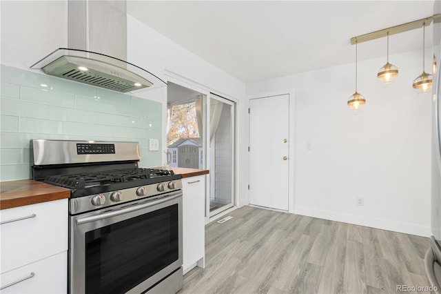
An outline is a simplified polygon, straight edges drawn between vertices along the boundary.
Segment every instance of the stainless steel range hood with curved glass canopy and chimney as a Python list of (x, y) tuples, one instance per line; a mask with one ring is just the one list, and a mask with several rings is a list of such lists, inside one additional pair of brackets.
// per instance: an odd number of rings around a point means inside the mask
[(68, 45), (31, 68), (55, 77), (119, 92), (133, 92), (165, 81), (125, 61), (125, 1), (69, 0)]

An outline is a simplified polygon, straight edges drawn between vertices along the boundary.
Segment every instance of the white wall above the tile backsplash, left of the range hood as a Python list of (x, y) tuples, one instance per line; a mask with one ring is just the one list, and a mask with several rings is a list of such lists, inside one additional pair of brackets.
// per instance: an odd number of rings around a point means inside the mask
[(0, 1), (1, 63), (29, 70), (68, 46), (68, 1)]

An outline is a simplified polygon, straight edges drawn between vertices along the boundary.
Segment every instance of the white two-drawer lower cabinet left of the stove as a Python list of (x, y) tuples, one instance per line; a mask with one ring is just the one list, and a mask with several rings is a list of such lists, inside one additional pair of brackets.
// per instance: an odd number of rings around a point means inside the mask
[(0, 210), (0, 234), (1, 293), (67, 292), (68, 199)]

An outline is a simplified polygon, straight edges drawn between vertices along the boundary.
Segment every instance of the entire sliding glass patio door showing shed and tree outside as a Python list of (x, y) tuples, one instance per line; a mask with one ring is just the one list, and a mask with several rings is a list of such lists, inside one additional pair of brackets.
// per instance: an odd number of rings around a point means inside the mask
[(206, 217), (234, 206), (235, 128), (234, 101), (168, 82), (167, 166), (209, 170)]

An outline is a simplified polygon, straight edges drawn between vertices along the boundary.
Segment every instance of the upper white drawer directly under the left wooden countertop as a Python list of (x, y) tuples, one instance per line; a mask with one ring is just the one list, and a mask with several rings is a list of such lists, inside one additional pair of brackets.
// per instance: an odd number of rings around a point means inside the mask
[(0, 210), (1, 273), (68, 250), (68, 199)]

